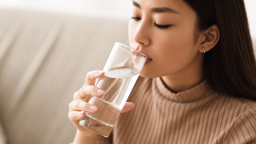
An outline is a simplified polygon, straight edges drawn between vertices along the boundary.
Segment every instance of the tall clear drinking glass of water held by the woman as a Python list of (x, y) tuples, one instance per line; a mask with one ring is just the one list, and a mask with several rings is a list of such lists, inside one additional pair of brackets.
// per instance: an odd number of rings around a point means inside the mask
[(145, 54), (116, 42), (103, 69), (104, 76), (95, 82), (105, 94), (101, 98), (91, 96), (89, 100), (98, 111), (96, 114), (86, 113), (79, 124), (108, 137), (146, 60)]

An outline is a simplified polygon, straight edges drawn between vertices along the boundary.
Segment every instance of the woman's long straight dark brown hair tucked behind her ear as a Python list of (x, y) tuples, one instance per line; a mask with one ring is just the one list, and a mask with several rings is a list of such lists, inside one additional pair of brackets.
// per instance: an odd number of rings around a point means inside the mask
[(205, 53), (204, 77), (217, 92), (256, 100), (256, 62), (243, 0), (184, 0), (197, 14), (196, 32), (218, 25), (220, 40)]

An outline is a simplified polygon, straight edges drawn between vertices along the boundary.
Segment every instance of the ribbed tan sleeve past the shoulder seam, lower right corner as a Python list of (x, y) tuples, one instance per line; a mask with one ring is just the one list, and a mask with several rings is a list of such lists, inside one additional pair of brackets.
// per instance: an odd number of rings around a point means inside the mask
[(224, 143), (256, 143), (256, 106), (246, 110), (234, 121)]

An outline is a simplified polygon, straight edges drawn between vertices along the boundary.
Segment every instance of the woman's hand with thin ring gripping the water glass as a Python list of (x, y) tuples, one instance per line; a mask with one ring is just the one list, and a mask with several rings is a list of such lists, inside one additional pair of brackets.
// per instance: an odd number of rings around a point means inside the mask
[[(104, 91), (100, 88), (94, 86), (96, 78), (100, 78), (104, 75), (103, 71), (90, 71), (87, 73), (85, 77), (85, 82), (83, 87), (74, 93), (73, 101), (69, 103), (69, 113), (68, 117), (73, 125), (79, 130), (80, 132), (84, 133), (87, 136), (94, 135), (95, 133), (87, 128), (84, 128), (79, 125), (80, 119), (82, 119), (86, 112), (90, 114), (97, 113), (98, 108), (94, 105), (88, 103), (91, 95), (96, 97), (102, 97), (104, 95)], [(128, 112), (134, 107), (133, 103), (126, 102), (121, 113)]]

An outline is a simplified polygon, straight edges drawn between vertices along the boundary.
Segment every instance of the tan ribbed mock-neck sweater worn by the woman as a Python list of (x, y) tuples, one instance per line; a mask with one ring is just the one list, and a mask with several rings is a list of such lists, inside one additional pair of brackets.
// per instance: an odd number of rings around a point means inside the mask
[(161, 78), (139, 77), (112, 134), (96, 143), (256, 143), (256, 102), (219, 94), (201, 82), (174, 94)]

